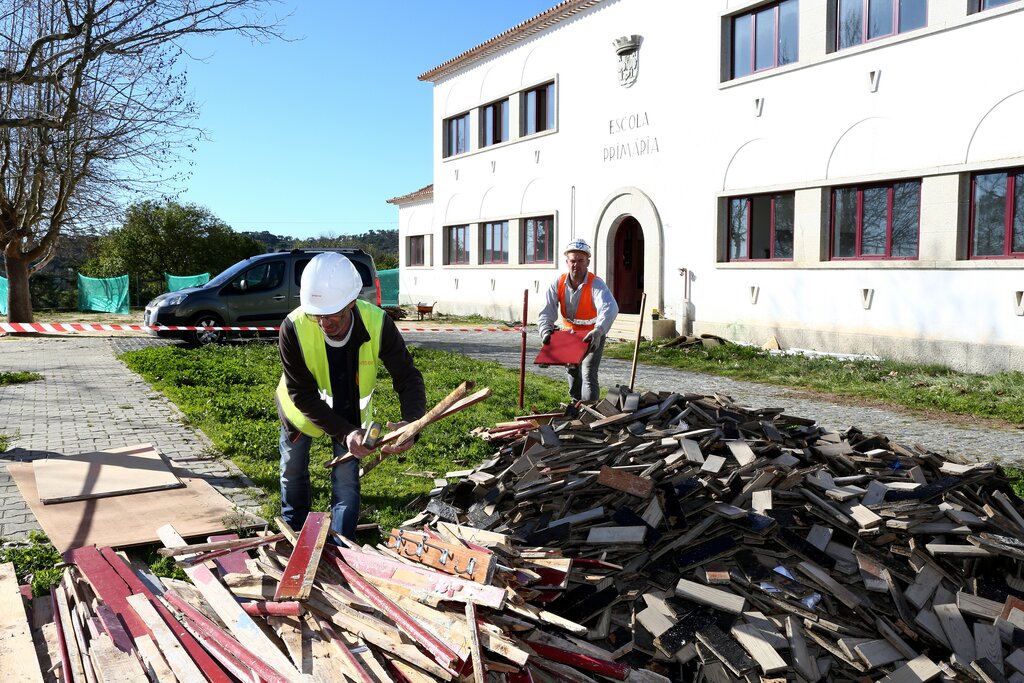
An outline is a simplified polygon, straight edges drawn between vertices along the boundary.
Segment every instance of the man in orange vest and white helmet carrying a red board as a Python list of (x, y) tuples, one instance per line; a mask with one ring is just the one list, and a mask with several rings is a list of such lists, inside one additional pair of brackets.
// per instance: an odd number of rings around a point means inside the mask
[(541, 343), (551, 343), (551, 333), (559, 315), (565, 321), (565, 330), (584, 335), (590, 342), (590, 351), (580, 366), (566, 366), (569, 396), (572, 400), (597, 400), (601, 385), (597, 380), (604, 339), (618, 314), (618, 304), (604, 281), (590, 267), (590, 245), (586, 240), (573, 240), (565, 246), (567, 272), (559, 275), (545, 295), (544, 308), (538, 316)]

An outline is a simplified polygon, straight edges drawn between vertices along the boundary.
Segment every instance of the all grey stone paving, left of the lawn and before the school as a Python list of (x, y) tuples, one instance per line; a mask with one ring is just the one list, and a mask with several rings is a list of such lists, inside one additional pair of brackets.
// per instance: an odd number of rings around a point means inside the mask
[[(400, 327), (413, 327), (401, 325)], [(537, 354), (537, 335), (527, 341), (527, 364)], [(496, 332), (408, 332), (407, 340), (519, 367), (520, 335)], [(230, 462), (215, 457), (204, 434), (185, 424), (178, 410), (117, 359), (131, 348), (167, 343), (150, 337), (53, 336), (0, 340), (0, 371), (32, 371), (42, 382), (0, 386), (0, 432), (10, 450), (0, 463), (27, 461), (49, 453), (73, 454), (133, 443), (154, 443), (169, 458), (206, 476), (240, 508), (258, 512), (261, 492), (251, 487)], [(529, 366), (556, 379), (559, 368)], [(605, 386), (629, 383), (630, 364), (605, 359)], [(996, 460), (1024, 465), (1024, 430), (972, 426), (913, 414), (808, 398), (786, 389), (753, 382), (650, 366), (637, 369), (635, 386), (654, 391), (722, 393), (753, 408), (777, 407), (786, 413), (837, 429), (856, 426), (894, 441), (921, 445), (968, 460)], [(0, 467), (0, 538), (38, 529), (16, 484)]]

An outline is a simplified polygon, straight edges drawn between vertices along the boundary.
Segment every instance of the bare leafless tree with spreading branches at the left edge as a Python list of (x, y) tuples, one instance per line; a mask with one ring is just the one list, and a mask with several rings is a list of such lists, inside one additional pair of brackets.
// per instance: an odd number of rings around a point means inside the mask
[(167, 181), (199, 133), (184, 41), (279, 37), (273, 0), (0, 3), (0, 249), (8, 319), (32, 322), (29, 278), (62, 232), (110, 222)]

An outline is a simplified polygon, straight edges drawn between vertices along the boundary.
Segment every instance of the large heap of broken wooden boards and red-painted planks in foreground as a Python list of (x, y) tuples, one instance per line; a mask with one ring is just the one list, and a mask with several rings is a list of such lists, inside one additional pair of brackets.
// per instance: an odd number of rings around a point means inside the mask
[[(1024, 681), (1024, 516), (994, 465), (723, 396), (614, 390), (477, 432), (495, 455), (446, 473), (375, 548), (327, 543), (314, 513), (297, 532), (190, 546), (161, 528), (191, 584), (110, 548), (70, 551), (52, 616), (34, 601), (43, 669), (62, 681)], [(4, 633), (23, 634), (0, 647), (6, 673), (31, 639), (20, 610), (4, 611)]]

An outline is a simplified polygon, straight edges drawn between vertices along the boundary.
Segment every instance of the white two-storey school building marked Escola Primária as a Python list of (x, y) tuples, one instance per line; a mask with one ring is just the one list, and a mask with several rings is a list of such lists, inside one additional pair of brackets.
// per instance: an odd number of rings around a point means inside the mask
[(403, 303), (1024, 370), (1024, 0), (566, 0), (423, 74)]

